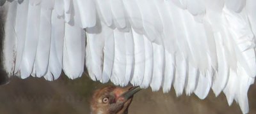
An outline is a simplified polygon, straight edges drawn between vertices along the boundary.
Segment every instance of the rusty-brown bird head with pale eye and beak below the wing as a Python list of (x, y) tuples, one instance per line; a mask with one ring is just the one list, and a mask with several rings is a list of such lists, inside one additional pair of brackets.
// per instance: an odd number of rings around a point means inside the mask
[(140, 87), (115, 87), (108, 86), (95, 90), (91, 111), (93, 114), (127, 113), (132, 102), (133, 95), (140, 90)]

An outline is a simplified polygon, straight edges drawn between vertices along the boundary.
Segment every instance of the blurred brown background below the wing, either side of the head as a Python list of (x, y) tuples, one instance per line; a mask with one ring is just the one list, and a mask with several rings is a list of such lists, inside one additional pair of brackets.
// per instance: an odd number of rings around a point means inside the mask
[[(66, 76), (54, 82), (47, 82), (44, 78), (27, 78), (21, 80), (13, 77), (8, 85), (0, 86), (0, 113), (2, 114), (88, 114), (89, 102), (93, 90), (100, 88), (101, 83), (92, 82), (82, 76), (76, 80), (69, 80)], [(252, 85), (248, 92), (250, 113), (256, 113), (256, 85)], [(163, 94), (151, 92), (150, 89), (141, 90), (129, 108), (129, 114), (169, 114), (169, 113), (241, 113), (239, 106), (233, 103), (228, 106), (225, 96), (215, 97), (211, 93), (200, 100), (191, 97), (176, 97), (175, 92)]]

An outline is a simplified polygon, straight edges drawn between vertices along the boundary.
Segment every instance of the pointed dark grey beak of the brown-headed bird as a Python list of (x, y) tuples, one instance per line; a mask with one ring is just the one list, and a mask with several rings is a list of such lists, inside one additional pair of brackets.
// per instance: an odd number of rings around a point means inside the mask
[(129, 89), (126, 92), (124, 92), (120, 97), (123, 97), (125, 100), (128, 100), (140, 90), (140, 87), (129, 87)]

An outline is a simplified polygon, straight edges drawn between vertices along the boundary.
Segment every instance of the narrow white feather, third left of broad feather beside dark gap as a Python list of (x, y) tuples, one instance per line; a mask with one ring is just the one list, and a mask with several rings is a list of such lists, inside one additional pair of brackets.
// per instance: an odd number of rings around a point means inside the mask
[(29, 5), (27, 21), (24, 52), (20, 63), (21, 78), (27, 78), (32, 73), (33, 64), (35, 62), (40, 28), (40, 6)]

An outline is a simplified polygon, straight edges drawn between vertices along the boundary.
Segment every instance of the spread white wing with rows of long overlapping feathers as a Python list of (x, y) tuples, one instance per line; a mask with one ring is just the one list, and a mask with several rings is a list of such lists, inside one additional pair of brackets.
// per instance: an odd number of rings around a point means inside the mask
[[(248, 113), (254, 0), (0, 0), (6, 76), (94, 81), (204, 99)], [(8, 78), (7, 77), (7, 78)], [(5, 79), (5, 78), (4, 78)]]

